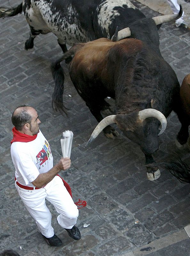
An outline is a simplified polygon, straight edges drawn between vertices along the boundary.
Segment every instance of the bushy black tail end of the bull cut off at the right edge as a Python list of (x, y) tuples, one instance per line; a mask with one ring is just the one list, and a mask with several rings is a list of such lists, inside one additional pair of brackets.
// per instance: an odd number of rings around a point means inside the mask
[(174, 161), (148, 164), (147, 167), (162, 167), (174, 175), (181, 183), (190, 183), (190, 167), (180, 158)]

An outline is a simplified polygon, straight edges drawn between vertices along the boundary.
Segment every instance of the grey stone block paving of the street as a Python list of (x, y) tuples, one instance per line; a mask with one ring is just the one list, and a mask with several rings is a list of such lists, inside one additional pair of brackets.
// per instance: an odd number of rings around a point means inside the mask
[[(146, 16), (159, 15), (136, 1), (133, 3)], [(8, 1), (0, 0), (0, 5), (7, 6)], [(190, 223), (189, 184), (180, 183), (162, 169), (158, 180), (147, 180), (143, 153), (118, 129), (120, 136), (115, 140), (100, 134), (84, 148), (97, 121), (77, 94), (64, 63), (68, 117), (51, 108), (50, 64), (62, 54), (56, 37), (37, 36), (34, 49), (24, 50), (29, 28), (23, 14), (1, 19), (0, 35), (0, 251), (14, 249), (21, 256), (189, 256), (189, 237), (184, 229)], [(190, 72), (189, 30), (176, 28), (170, 22), (162, 24), (159, 35), (162, 55), (181, 83)], [(72, 165), (60, 175), (71, 185), (74, 201), (87, 201), (87, 206), (79, 210), (79, 241), (70, 238), (58, 225), (57, 212), (47, 203), (52, 226), (63, 241), (62, 247), (48, 246), (16, 192), (10, 156), (11, 115), (20, 104), (38, 111), (54, 163), (61, 157), (61, 132), (69, 129), (74, 133)], [(178, 149), (175, 145), (179, 128), (176, 114), (171, 113), (160, 137), (160, 149), (154, 154), (156, 161), (178, 154), (190, 163), (188, 148)], [(84, 223), (90, 225), (83, 228)]]

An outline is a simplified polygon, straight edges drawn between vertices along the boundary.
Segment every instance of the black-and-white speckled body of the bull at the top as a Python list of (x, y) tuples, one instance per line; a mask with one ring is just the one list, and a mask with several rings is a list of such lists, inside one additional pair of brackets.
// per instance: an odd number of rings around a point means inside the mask
[[(0, 17), (15, 16), (22, 11), (30, 27), (26, 50), (33, 48), (37, 35), (53, 32), (62, 51), (66, 52), (65, 43), (73, 46), (101, 37), (111, 38), (116, 26), (121, 30), (146, 18), (129, 0), (23, 0), (17, 7), (0, 7)], [(165, 15), (158, 26), (172, 19), (173, 16)]]

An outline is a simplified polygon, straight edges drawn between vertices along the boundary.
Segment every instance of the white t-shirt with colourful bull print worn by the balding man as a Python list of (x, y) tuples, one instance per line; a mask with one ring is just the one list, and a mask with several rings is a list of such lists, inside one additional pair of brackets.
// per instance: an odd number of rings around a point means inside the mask
[(41, 131), (35, 140), (13, 142), (11, 156), (16, 170), (15, 177), (22, 185), (34, 187), (31, 182), (40, 173), (48, 172), (53, 167), (50, 145)]

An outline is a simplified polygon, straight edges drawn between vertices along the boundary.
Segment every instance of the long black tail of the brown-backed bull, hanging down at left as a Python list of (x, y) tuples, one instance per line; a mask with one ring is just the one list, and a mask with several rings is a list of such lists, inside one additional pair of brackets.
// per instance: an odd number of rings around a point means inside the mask
[[(71, 55), (74, 55), (78, 50), (83, 47), (84, 44), (76, 44), (71, 47), (59, 60), (51, 64), (51, 73), (55, 83), (54, 92), (52, 95), (52, 108), (55, 111), (59, 111), (61, 114), (66, 114), (66, 107), (63, 105), (63, 91), (64, 91), (64, 71), (60, 65), (60, 62), (67, 59)], [(72, 63), (72, 61), (71, 61)]]

